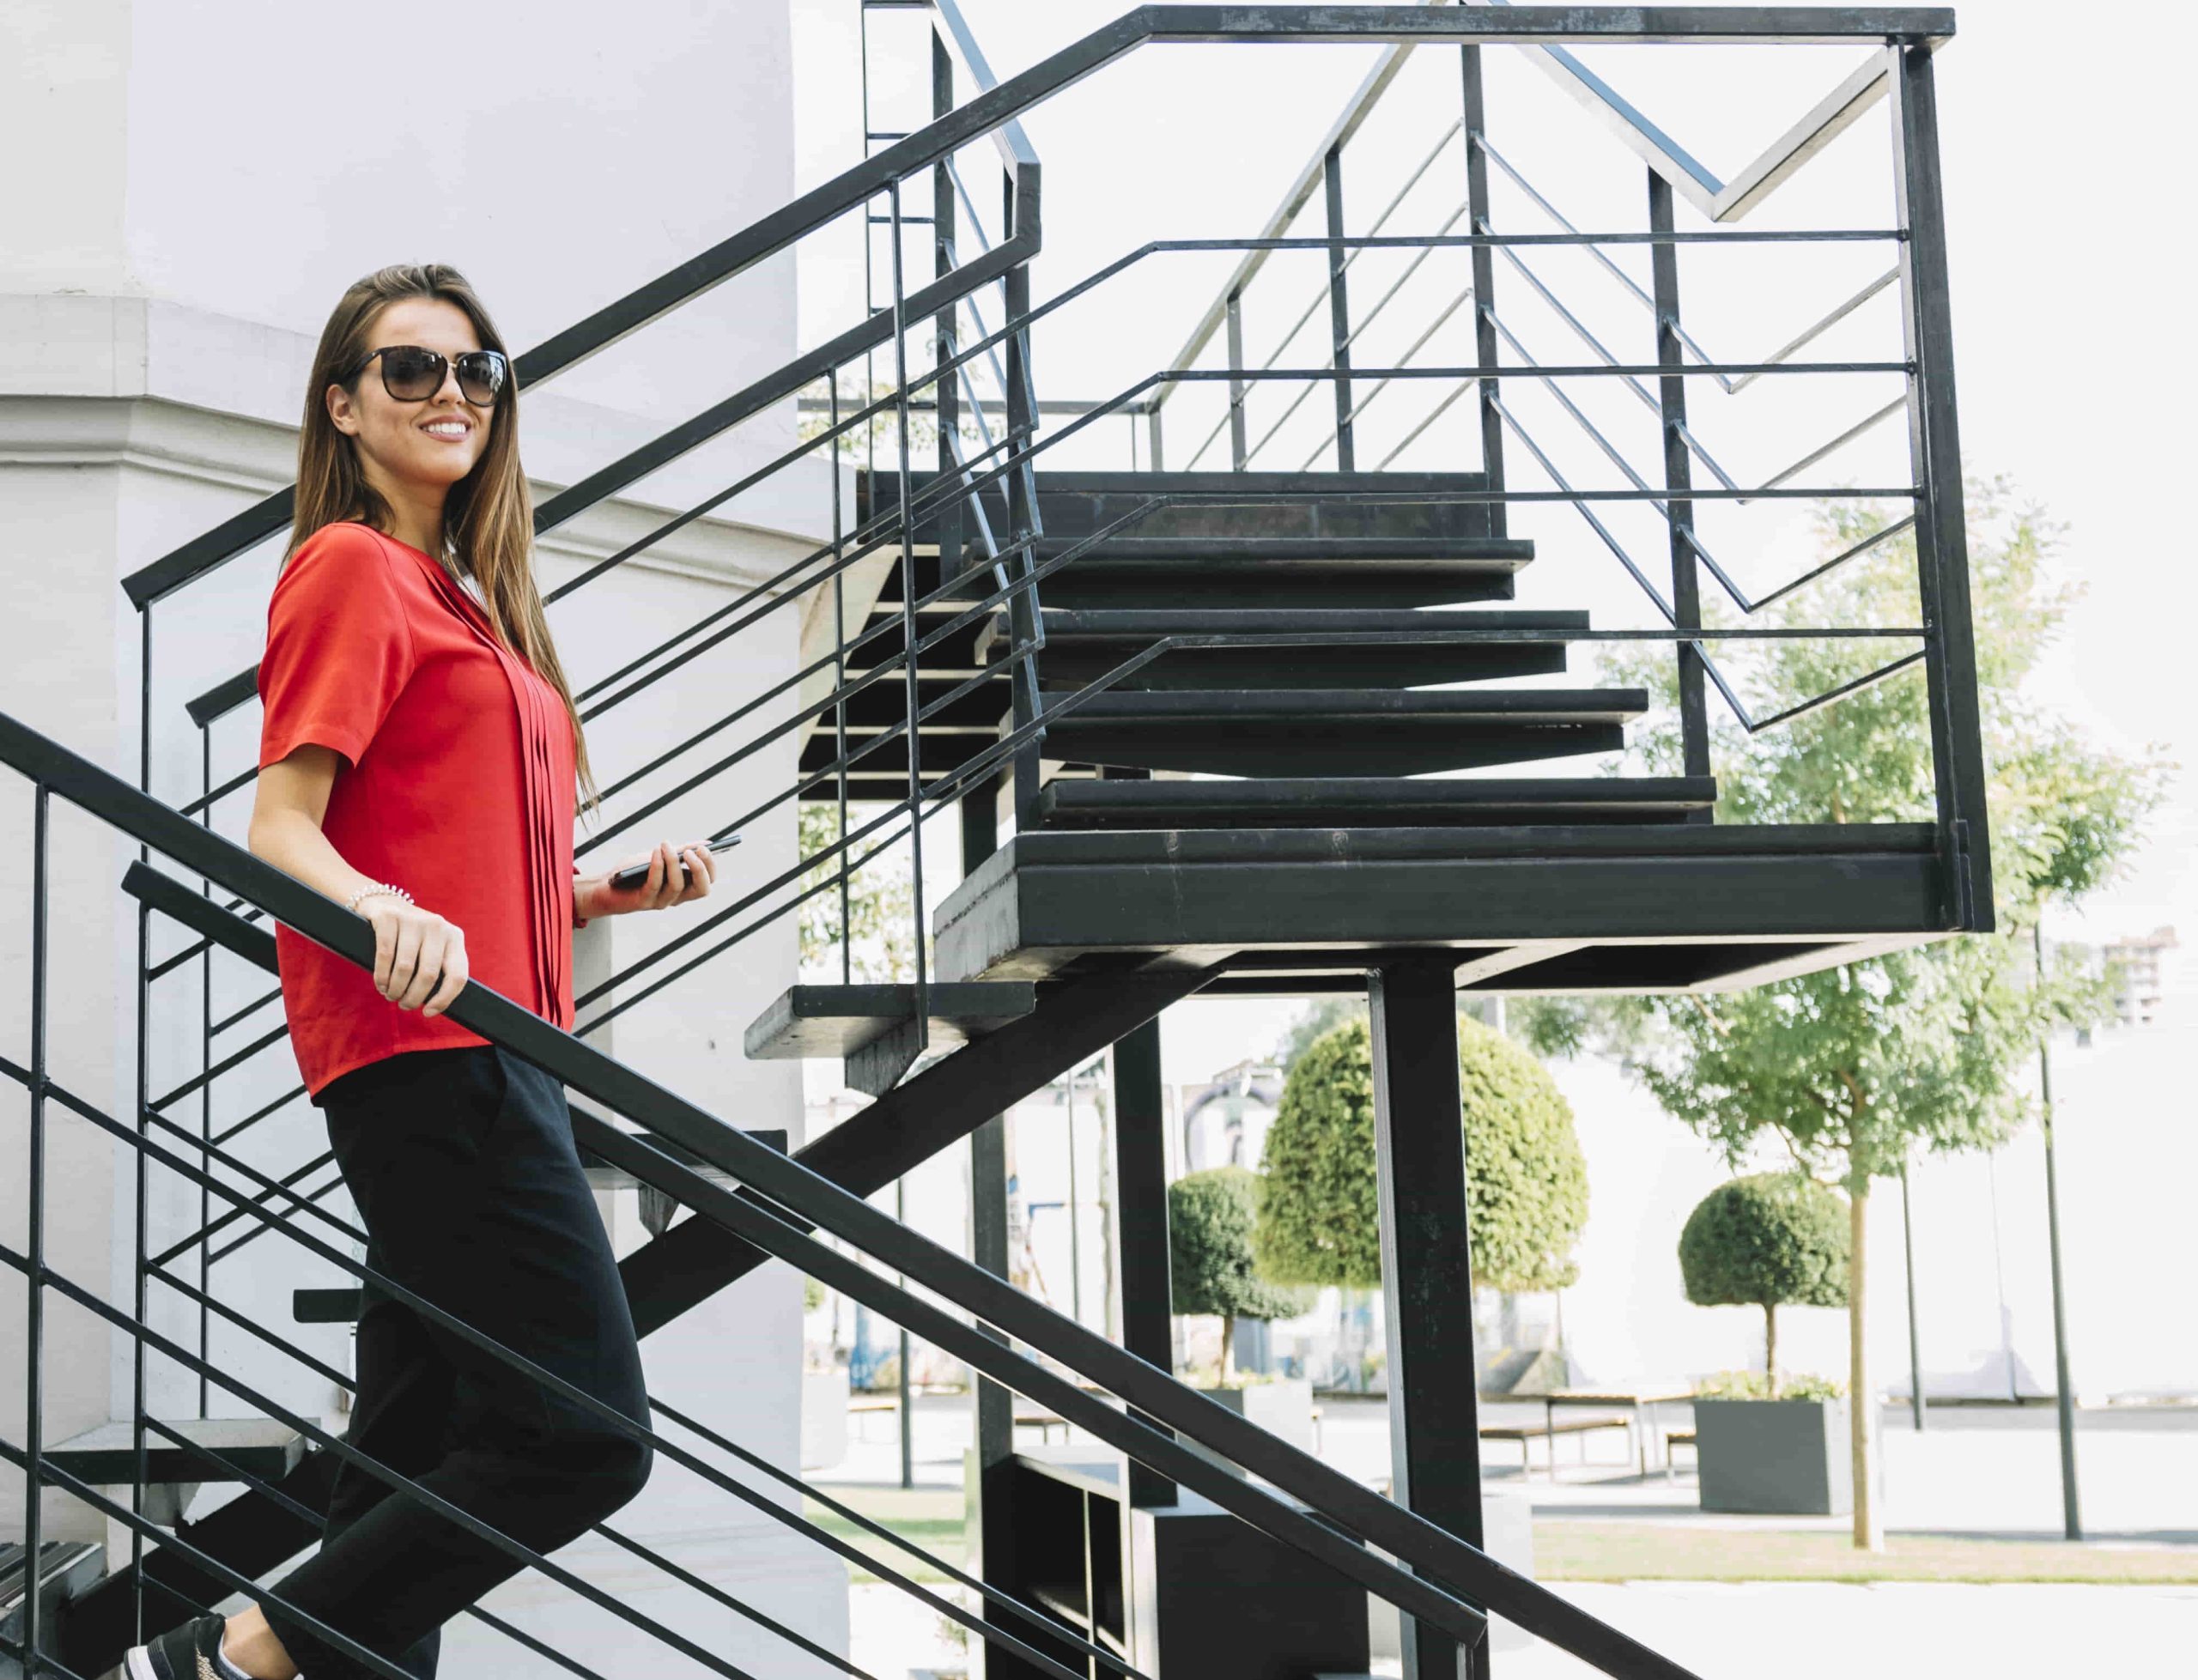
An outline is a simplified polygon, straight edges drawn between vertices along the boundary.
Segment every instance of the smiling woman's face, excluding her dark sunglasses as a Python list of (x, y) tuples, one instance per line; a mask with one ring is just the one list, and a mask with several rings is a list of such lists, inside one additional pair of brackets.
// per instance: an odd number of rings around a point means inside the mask
[[(424, 402), (398, 402), (382, 389), (382, 363), (376, 358), (358, 376), (358, 391), (328, 387), (328, 413), (338, 431), (358, 446), (367, 482), (400, 499), (431, 497), (437, 506), (488, 446), (490, 409), (466, 400), (457, 387), (457, 358), (479, 350), (473, 319), (440, 297), (404, 297), (380, 312), (369, 330), (367, 350), (382, 345), (424, 345), (440, 350), (451, 367), (442, 389)], [(402, 495), (402, 493), (409, 493)]]

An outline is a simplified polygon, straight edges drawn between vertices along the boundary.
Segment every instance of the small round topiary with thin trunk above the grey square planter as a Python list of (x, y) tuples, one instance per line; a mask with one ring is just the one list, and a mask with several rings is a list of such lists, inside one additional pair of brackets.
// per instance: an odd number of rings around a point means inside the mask
[(1761, 1306), (1763, 1372), (1778, 1399), (1778, 1308), (1846, 1306), (1846, 1203), (1798, 1172), (1712, 1190), (1679, 1231), (1695, 1306)]

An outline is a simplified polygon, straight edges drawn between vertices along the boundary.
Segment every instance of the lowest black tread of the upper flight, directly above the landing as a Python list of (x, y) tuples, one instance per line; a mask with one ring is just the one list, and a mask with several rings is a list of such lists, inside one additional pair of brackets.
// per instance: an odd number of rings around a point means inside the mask
[(1055, 829), (1246, 829), (1677, 822), (1717, 803), (1712, 776), (1273, 776), (1244, 781), (1053, 781), (1037, 816)]

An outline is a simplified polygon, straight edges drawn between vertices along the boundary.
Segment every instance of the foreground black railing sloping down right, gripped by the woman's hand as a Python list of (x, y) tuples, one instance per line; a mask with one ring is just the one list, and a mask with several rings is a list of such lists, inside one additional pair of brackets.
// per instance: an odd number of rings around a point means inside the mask
[[(367, 968), (374, 961), (374, 937), (365, 919), (345, 913), (334, 902), (321, 897), (301, 882), (270, 869), (220, 836), (207, 833), (178, 811), (152, 800), (121, 778), (99, 770), (86, 759), (75, 756), (55, 741), (4, 715), (0, 715), (0, 763), (7, 763), (29, 785), (33, 805), (33, 855), (29, 869), (33, 884), (31, 1060), (29, 1064), (18, 1064), (0, 1058), (0, 1075), (20, 1084), (29, 1097), (31, 1172), (26, 1181), (31, 1192), (26, 1249), (18, 1251), (0, 1245), (0, 1260), (22, 1273), (31, 1289), (26, 1339), (31, 1407), (24, 1440), (0, 1443), (0, 1454), (18, 1465), (26, 1475), (26, 1508), (33, 1513), (29, 1548), (33, 1555), (40, 1541), (35, 1515), (40, 1508), (40, 1491), (42, 1486), (59, 1486), (110, 1519), (125, 1524), (141, 1539), (158, 1537), (165, 1550), (187, 1559), (218, 1585), (226, 1590), (255, 1590), (251, 1577), (229, 1568), (220, 1559), (193, 1546), (189, 1539), (180, 1535), (163, 1535), (158, 1526), (141, 1513), (108, 1500), (81, 1478), (44, 1462), (40, 1399), (44, 1392), (42, 1304), (46, 1291), (53, 1291), (55, 1295), (73, 1302), (77, 1308), (92, 1313), (127, 1335), (134, 1346), (158, 1352), (165, 1359), (174, 1359), (176, 1363), (196, 1370), (218, 1388), (244, 1399), (246, 1403), (264, 1410), (268, 1416), (275, 1416), (308, 1436), (321, 1451), (332, 1451), (345, 1462), (360, 1465), (378, 1480), (385, 1480), (400, 1495), (429, 1504), (440, 1515), (459, 1522), (508, 1555), (519, 1557), (525, 1566), (565, 1583), (635, 1627), (664, 1638), (675, 1649), (697, 1662), (703, 1662), (703, 1667), (739, 1676), (741, 1669), (723, 1662), (708, 1649), (686, 1640), (659, 1623), (653, 1623), (648, 1616), (633, 1612), (631, 1607), (618, 1603), (611, 1594), (600, 1592), (550, 1559), (530, 1552), (523, 1544), (499, 1535), (464, 1511), (448, 1506), (426, 1489), (413, 1484), (409, 1478), (360, 1454), (347, 1440), (330, 1434), (310, 1418), (299, 1416), (295, 1410), (279, 1405), (266, 1392), (244, 1383), (240, 1377), (215, 1366), (213, 1361), (202, 1359), (174, 1337), (154, 1330), (147, 1322), (143, 1302), (136, 1311), (123, 1311), (108, 1304), (101, 1291), (90, 1289), (81, 1280), (55, 1269), (46, 1251), (44, 1187), (46, 1130), (53, 1124), (53, 1115), (59, 1113), (106, 1132), (116, 1143), (132, 1150), (141, 1176), (141, 1196), (147, 1170), (152, 1165), (160, 1165), (163, 1170), (198, 1183), (209, 1194), (231, 1203), (246, 1218), (281, 1223), (284, 1236), (308, 1253), (314, 1253), (317, 1258), (336, 1264), (356, 1278), (376, 1282), (376, 1286), (389, 1291), (411, 1311), (433, 1319), (453, 1335), (466, 1337), (477, 1348), (512, 1366), (525, 1377), (545, 1383), (563, 1399), (604, 1418), (613, 1429), (648, 1440), (655, 1451), (662, 1451), (670, 1460), (703, 1475), (714, 1486), (747, 1500), (774, 1519), (785, 1522), (789, 1528), (846, 1555), (846, 1548), (835, 1546), (829, 1535), (818, 1530), (815, 1524), (776, 1506), (776, 1502), (767, 1497), (754, 1495), (752, 1489), (745, 1489), (736, 1482), (736, 1478), (717, 1471), (699, 1454), (664, 1438), (655, 1429), (644, 1429), (642, 1425), (631, 1423), (615, 1412), (615, 1407), (598, 1403), (582, 1390), (563, 1383), (552, 1372), (541, 1370), (521, 1355), (495, 1344), (490, 1337), (444, 1313), (433, 1302), (413, 1295), (363, 1262), (349, 1260), (349, 1256), (341, 1249), (308, 1234), (301, 1218), (286, 1218), (268, 1207), (270, 1201), (288, 1203), (295, 1207), (297, 1216), (312, 1216), (314, 1220), (334, 1227), (338, 1234), (352, 1234), (343, 1220), (336, 1220), (325, 1214), (325, 1209), (319, 1209), (312, 1198), (299, 1196), (295, 1190), (279, 1185), (275, 1179), (248, 1168), (233, 1154), (218, 1152), (213, 1146), (204, 1143), (204, 1139), (193, 1137), (180, 1126), (167, 1128), (180, 1146), (207, 1154), (209, 1168), (198, 1168), (185, 1154), (152, 1137), (149, 1115), (141, 1115), (138, 1124), (132, 1126), (130, 1121), (101, 1110), (99, 1104), (95, 1104), (86, 1093), (57, 1080), (46, 1058), (46, 1018), (51, 1009), (46, 972), (51, 939), (48, 853), (51, 800), (55, 796), (106, 825), (121, 838), (134, 840), (141, 849), (169, 858), (174, 864), (189, 871), (191, 877), (231, 893), (240, 902), (253, 904), (264, 915), (281, 921), (284, 926), (297, 928), (314, 943), (338, 952), (360, 968)], [(207, 941), (273, 970), (273, 941), (262, 928), (246, 924), (231, 910), (222, 910), (218, 904), (185, 886), (180, 880), (167, 877), (147, 864), (136, 864), (130, 871), (125, 888), (138, 897), (143, 906), (141, 915), (145, 919), (152, 919), (154, 915), (171, 917), (200, 932)], [(677, 1097), (664, 1086), (653, 1084), (637, 1071), (613, 1062), (600, 1051), (593, 1051), (569, 1034), (558, 1031), (501, 994), (488, 992), (481, 985), (468, 985), (451, 1005), (448, 1014), (466, 1029), (523, 1055), (528, 1062), (541, 1066), (582, 1097), (600, 1102), (611, 1115), (624, 1121), (622, 1126), (585, 1108), (574, 1110), (576, 1141), (598, 1157), (690, 1207), (697, 1218), (708, 1220), (721, 1231), (739, 1238), (743, 1245), (752, 1245), (758, 1256), (787, 1260), (798, 1271), (818, 1278), (851, 1300), (903, 1324), (910, 1333), (923, 1337), (932, 1346), (965, 1359), (974, 1370), (983, 1372), (991, 1381), (1053, 1407), (1059, 1416), (1086, 1429), (1097, 1440), (1103, 1440), (1136, 1462), (1194, 1489), (1270, 1539), (1292, 1546), (1336, 1568), (1347, 1579), (1398, 1605), (1400, 1612), (1418, 1618), (1420, 1623), (1440, 1627), (1453, 1638), (1473, 1645), (1484, 1632), (1484, 1614), (1495, 1612), (1536, 1632), (1574, 1656), (1594, 1662), (1607, 1673), (1670, 1676), (1673, 1680), (1686, 1673), (1670, 1660), (1587, 1616), (1547, 1588), (1506, 1570), (1435, 1524), (1429, 1524), (1411, 1511), (1391, 1504), (1387, 1497), (1374, 1493), (1361, 1482), (1330, 1469), (1319, 1458), (1288, 1447), (1257, 1425), (1251, 1425), (1242, 1416), (1215, 1405), (1198, 1390), (1178, 1383), (1172, 1374), (1147, 1366), (1143, 1359), (1136, 1359), (1084, 1326), (1073, 1324), (1070, 1319), (1033, 1302), (1007, 1280), (996, 1278), (961, 1256), (928, 1242), (890, 1216), (870, 1207), (862, 1196), (842, 1190), (837, 1183), (820, 1176), (800, 1161), (789, 1159), (739, 1130), (732, 1130), (695, 1104)], [(143, 1071), (138, 1082), (143, 1086)], [(626, 1126), (635, 1130), (626, 1130)], [(690, 1161), (714, 1168), (725, 1174), (725, 1179), (739, 1183), (741, 1190), (732, 1190), (712, 1176), (703, 1176), (695, 1165), (690, 1165)], [(226, 1172), (242, 1176), (246, 1183), (255, 1185), (257, 1194), (244, 1194), (224, 1176), (215, 1174), (211, 1165), (220, 1165)], [(870, 1260), (890, 1267), (910, 1284), (947, 1302), (954, 1311), (930, 1304), (910, 1289), (903, 1289), (879, 1271), (862, 1264), (859, 1258), (844, 1253), (842, 1247), (826, 1247), (811, 1236), (813, 1229), (837, 1238), (837, 1245), (855, 1249), (859, 1256), (868, 1256)], [(211, 1304), (211, 1297), (204, 1297), (200, 1291), (191, 1291), (189, 1284), (176, 1278), (176, 1273), (160, 1262), (147, 1260), (138, 1269), (141, 1293), (147, 1282), (178, 1286), (187, 1295), (196, 1295)], [(969, 1319), (961, 1317), (963, 1313), (967, 1313)], [(306, 1357), (273, 1330), (253, 1326), (244, 1319), (244, 1315), (224, 1317), (235, 1322), (240, 1328), (251, 1330), (270, 1348)], [(1013, 1352), (1007, 1344), (987, 1335), (985, 1326), (1013, 1337), (1018, 1344), (1031, 1348), (1033, 1355), (1042, 1355), (1048, 1363)], [(319, 1366), (319, 1370), (334, 1381), (343, 1381), (341, 1372), (334, 1372), (328, 1366)], [(1086, 1392), (1086, 1388), (1075, 1381), (1079, 1377), (1117, 1396), (1125, 1410), (1119, 1410), (1117, 1403), (1110, 1403), (1108, 1399)], [(1154, 1423), (1147, 1423), (1145, 1418), (1152, 1418)], [(147, 1425), (167, 1434), (178, 1445), (191, 1447), (189, 1436), (152, 1418), (147, 1418)], [(1183, 1440), (1178, 1440), (1178, 1436)], [(1246, 1471), (1262, 1478), (1273, 1491), (1259, 1482), (1218, 1469), (1213, 1462), (1191, 1451), (1185, 1440), (1205, 1445), (1207, 1449), (1235, 1460)], [(191, 1449), (220, 1458), (220, 1454), (207, 1447)], [(284, 1495), (277, 1486), (248, 1475), (235, 1465), (224, 1462), (222, 1473), (231, 1480), (242, 1480), (262, 1497), (286, 1504), (286, 1508), (301, 1519), (310, 1519), (312, 1515), (310, 1508), (288, 1500), (288, 1495)], [(637, 1541), (631, 1541), (629, 1537), (613, 1537), (629, 1550), (637, 1548)], [(1380, 1550), (1376, 1552), (1369, 1548)], [(903, 1585), (908, 1590), (917, 1590), (914, 1583)], [(996, 1603), (1000, 1599), (998, 1588), (983, 1588), (980, 1592), (987, 1603)], [(791, 1634), (791, 1629), (782, 1629), (765, 1612), (732, 1601), (730, 1594), (717, 1592), (714, 1596), (721, 1603), (736, 1607), (758, 1627)], [(945, 1607), (945, 1601), (939, 1601), (936, 1594), (925, 1596)], [(1048, 1627), (1051, 1638), (1059, 1638), (1057, 1627), (1046, 1621), (1046, 1612), (1042, 1607), (1020, 1605), (1020, 1612), (1035, 1618), (1037, 1625)], [(1064, 1680), (1075, 1676), (1075, 1669), (1064, 1667), (1055, 1658), (1048, 1658), (1042, 1649), (1020, 1640), (996, 1618), (961, 1614), (958, 1621), (969, 1625), (972, 1632), (978, 1632), (985, 1640), (1002, 1645), (1004, 1649), (1015, 1649), (1018, 1656), (1037, 1662), (1046, 1673), (1059, 1673)], [(321, 1627), (310, 1618), (308, 1625), (354, 1660), (371, 1667), (376, 1673), (402, 1680), (402, 1673), (393, 1665), (356, 1647), (334, 1629)], [(68, 1673), (62, 1665), (40, 1656), (35, 1651), (35, 1640), (37, 1627), (33, 1623), (26, 1629), (24, 1651), (20, 1651), (31, 1671), (35, 1673), (37, 1669), (48, 1669), (53, 1673)], [(1128, 1662), (1117, 1656), (1108, 1656), (1103, 1645), (1090, 1645), (1084, 1640), (1073, 1643), (1088, 1647), (1084, 1656), (1103, 1660), (1114, 1671), (1134, 1673)]]

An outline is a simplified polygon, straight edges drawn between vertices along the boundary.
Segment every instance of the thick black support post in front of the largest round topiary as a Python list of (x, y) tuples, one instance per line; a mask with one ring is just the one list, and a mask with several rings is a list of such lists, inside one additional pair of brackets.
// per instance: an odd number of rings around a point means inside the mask
[[(1374, 970), (1374, 1150), (1383, 1308), (1389, 1330), (1389, 1465), (1398, 1504), (1481, 1544), (1479, 1379), (1466, 1132), (1457, 1097), (1457, 963), (1442, 954)], [(1473, 1651), (1402, 1623), (1405, 1680), (1488, 1680)]]

